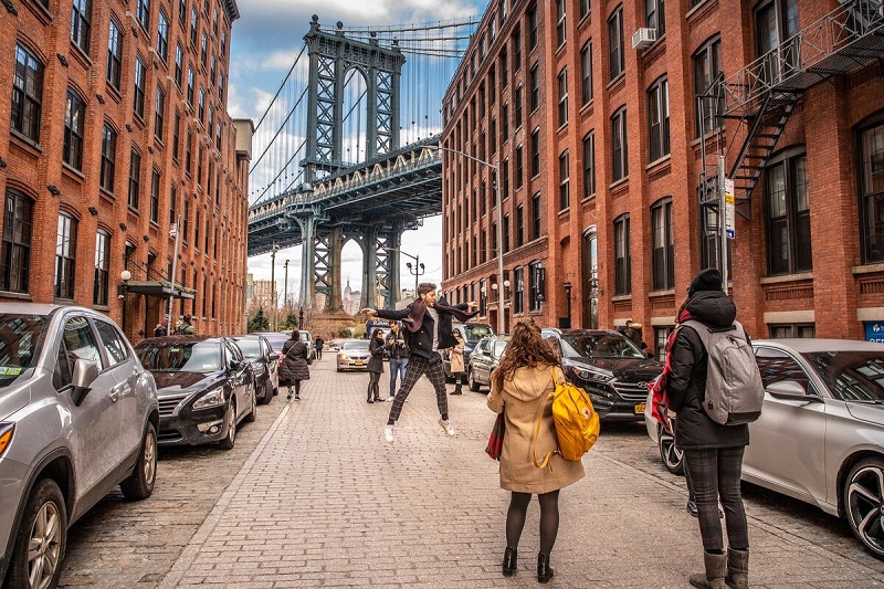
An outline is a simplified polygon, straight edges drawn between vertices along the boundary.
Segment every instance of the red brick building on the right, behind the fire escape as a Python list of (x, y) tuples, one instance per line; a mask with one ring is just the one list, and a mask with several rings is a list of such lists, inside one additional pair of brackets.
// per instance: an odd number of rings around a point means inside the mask
[[(499, 167), (507, 329), (527, 316), (571, 327), (632, 318), (657, 349), (692, 276), (718, 264), (715, 218), (698, 198), (701, 136), (711, 175), (718, 154), (728, 172), (737, 166), (748, 218), (736, 217), (730, 285), (749, 333), (863, 338), (884, 320), (878, 4), (492, 2), (444, 97), (441, 145)], [(639, 29), (655, 40), (632, 49)], [(824, 45), (814, 31), (845, 29), (860, 32), (803, 70), (811, 42)], [(696, 96), (719, 73), (757, 74), (772, 90), (741, 108), (730, 95), (704, 101), (730, 118), (702, 115)], [(780, 126), (750, 134), (753, 116)], [(444, 156), (441, 290), (481, 301), (496, 325), (494, 171)]]

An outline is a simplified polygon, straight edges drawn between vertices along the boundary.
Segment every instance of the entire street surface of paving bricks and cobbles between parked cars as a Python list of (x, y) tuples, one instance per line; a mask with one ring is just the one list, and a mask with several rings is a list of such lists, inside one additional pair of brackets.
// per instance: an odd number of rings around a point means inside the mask
[[(72, 529), (63, 587), (535, 587), (537, 503), (504, 579), (508, 494), (483, 452), (484, 393), (450, 398), (449, 439), (429, 382), (406, 404), (367, 404), (366, 375), (314, 362), (303, 401), (259, 408), (236, 446), (162, 450), (152, 497), (115, 494)], [(387, 378), (381, 379), (386, 395)], [(684, 480), (643, 424), (602, 425), (587, 477), (561, 494), (550, 586), (687, 587), (702, 567)], [(884, 562), (845, 522), (745, 485), (756, 588), (884, 587)]]

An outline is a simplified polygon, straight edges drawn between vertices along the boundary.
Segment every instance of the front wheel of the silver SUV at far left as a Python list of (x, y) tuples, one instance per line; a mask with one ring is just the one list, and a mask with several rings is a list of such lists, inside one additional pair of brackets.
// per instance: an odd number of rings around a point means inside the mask
[(64, 496), (52, 478), (39, 481), (22, 514), (9, 562), (9, 587), (55, 587), (67, 545)]

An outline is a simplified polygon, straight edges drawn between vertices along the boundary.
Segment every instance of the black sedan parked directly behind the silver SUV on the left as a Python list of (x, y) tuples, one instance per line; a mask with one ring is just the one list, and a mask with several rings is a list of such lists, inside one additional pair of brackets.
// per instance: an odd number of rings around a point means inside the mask
[(231, 338), (151, 337), (135, 350), (157, 381), (160, 445), (230, 450), (239, 423), (255, 420), (254, 375)]

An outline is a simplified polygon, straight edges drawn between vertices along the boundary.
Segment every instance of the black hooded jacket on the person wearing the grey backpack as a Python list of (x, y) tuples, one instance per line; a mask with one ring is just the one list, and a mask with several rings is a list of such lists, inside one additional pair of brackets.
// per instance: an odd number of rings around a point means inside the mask
[[(687, 303), (691, 318), (712, 328), (728, 327), (737, 317), (737, 307), (723, 291), (702, 291)], [(680, 327), (672, 346), (666, 393), (677, 413), (675, 443), (682, 450), (738, 448), (749, 443), (749, 427), (720, 425), (703, 410), (706, 398), (708, 355), (699, 335), (691, 327)]]

